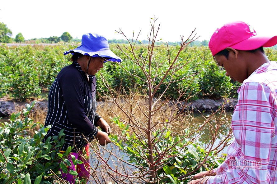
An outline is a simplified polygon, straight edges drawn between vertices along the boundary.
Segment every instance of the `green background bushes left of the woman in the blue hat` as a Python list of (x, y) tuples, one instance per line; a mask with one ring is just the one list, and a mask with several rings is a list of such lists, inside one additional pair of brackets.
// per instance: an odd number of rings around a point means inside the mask
[(68, 57), (57, 47), (0, 48), (0, 89), (11, 93), (18, 100), (41, 94), (42, 88), (49, 88), (59, 70), (68, 65)]

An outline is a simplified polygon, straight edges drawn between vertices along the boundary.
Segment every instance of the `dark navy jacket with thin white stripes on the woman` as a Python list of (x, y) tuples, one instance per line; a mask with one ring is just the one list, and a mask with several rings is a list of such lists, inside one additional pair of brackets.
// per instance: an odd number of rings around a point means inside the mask
[[(65, 141), (61, 150), (68, 146), (81, 149), (98, 133), (94, 125), (101, 117), (96, 114), (96, 78), (89, 75), (89, 81), (81, 66), (73, 61), (64, 67), (50, 87), (48, 112), (45, 127), (52, 125), (44, 140), (58, 136), (64, 129)], [(93, 123), (92, 123), (93, 122)]]

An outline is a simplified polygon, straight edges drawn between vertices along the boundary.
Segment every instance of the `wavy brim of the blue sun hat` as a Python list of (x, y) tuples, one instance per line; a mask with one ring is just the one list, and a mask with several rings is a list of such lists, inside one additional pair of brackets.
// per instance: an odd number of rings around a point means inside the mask
[(82, 55), (89, 55), (91, 57), (107, 57), (107, 61), (112, 62), (121, 62), (122, 59), (115, 55), (110, 49), (103, 49), (98, 51), (91, 51), (88, 50), (86, 47), (80, 46), (73, 50), (65, 51), (63, 52), (64, 55), (67, 55), (69, 53), (74, 54), (74, 52), (81, 53)]

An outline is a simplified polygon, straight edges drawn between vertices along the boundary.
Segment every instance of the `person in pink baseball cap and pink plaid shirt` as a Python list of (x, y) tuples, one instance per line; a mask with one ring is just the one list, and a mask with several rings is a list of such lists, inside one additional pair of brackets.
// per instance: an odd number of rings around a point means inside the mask
[(263, 51), (276, 43), (277, 36), (259, 36), (242, 21), (215, 30), (209, 42), (214, 60), (242, 83), (234, 141), (218, 168), (195, 174), (189, 184), (277, 183), (277, 64)]

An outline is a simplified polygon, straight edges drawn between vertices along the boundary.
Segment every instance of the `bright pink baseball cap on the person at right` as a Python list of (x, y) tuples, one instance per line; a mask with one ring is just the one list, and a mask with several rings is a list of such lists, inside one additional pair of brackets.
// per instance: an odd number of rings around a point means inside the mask
[(276, 44), (277, 36), (258, 36), (251, 25), (236, 21), (216, 29), (209, 41), (209, 48), (214, 56), (227, 47), (249, 51), (259, 47), (272, 47)]

